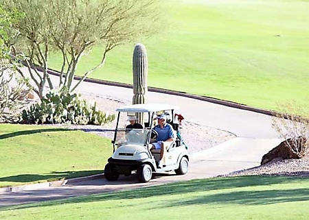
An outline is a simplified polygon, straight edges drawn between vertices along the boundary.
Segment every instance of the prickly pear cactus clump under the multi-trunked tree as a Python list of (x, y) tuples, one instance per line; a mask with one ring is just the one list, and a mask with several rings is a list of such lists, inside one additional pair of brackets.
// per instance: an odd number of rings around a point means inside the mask
[(98, 110), (96, 103), (87, 103), (80, 95), (67, 92), (49, 92), (22, 112), (23, 123), (69, 123), (74, 125), (103, 125), (115, 119), (115, 114), (106, 115)]

